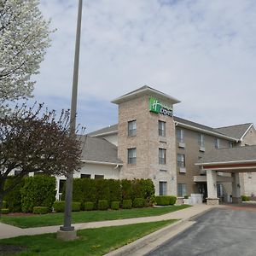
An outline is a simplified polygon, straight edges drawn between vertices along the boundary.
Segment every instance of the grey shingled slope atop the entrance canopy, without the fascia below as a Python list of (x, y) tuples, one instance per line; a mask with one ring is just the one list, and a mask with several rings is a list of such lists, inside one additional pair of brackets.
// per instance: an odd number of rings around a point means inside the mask
[(198, 164), (222, 163), (255, 160), (256, 162), (256, 145), (234, 147), (234, 148), (214, 148), (205, 154)]

